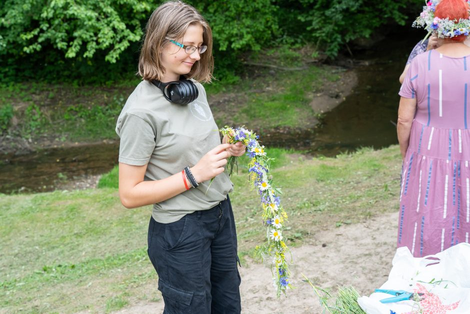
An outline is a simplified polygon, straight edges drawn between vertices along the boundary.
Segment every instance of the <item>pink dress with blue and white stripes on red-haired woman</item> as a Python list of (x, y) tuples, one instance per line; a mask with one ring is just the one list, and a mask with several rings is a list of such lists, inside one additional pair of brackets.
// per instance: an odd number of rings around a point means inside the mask
[[(468, 59), (468, 60), (467, 60)], [(397, 246), (435, 254), (470, 232), (470, 56), (416, 56), (399, 95), (416, 98), (401, 171)]]

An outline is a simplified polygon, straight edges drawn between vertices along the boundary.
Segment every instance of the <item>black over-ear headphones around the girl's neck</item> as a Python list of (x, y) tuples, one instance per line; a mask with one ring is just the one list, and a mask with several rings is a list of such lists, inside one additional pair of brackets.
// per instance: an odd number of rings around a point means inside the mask
[(175, 104), (187, 105), (199, 96), (199, 91), (191, 80), (183, 79), (168, 83), (153, 80), (152, 84), (163, 92), (167, 101)]

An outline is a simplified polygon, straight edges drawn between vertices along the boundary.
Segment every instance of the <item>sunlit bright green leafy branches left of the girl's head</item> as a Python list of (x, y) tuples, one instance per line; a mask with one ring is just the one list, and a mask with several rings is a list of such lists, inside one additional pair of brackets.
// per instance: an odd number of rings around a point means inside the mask
[(32, 54), (51, 46), (66, 58), (106, 51), (115, 63), (130, 42), (142, 36), (150, 2), (137, 0), (6, 0), (1, 7), (0, 52)]

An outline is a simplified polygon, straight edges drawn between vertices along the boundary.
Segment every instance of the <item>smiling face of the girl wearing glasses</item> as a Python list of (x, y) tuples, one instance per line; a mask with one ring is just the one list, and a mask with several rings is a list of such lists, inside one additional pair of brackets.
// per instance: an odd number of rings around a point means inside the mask
[[(202, 26), (190, 25), (182, 38), (177, 40), (184, 46), (200, 47), (202, 45)], [(165, 68), (162, 82), (170, 82), (179, 80), (180, 75), (184, 75), (191, 71), (192, 65), (200, 59), (199, 52), (196, 49), (192, 54), (185, 53), (183, 48), (168, 43), (161, 52), (161, 65)]]

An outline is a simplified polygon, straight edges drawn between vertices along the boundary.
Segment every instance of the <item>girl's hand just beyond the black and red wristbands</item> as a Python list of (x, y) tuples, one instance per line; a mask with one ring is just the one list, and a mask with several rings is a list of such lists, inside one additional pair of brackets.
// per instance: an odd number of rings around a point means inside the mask
[(225, 170), (227, 158), (231, 156), (226, 149), (230, 146), (230, 144), (220, 144), (216, 146), (202, 156), (202, 158), (190, 168), (197, 183), (210, 180)]

